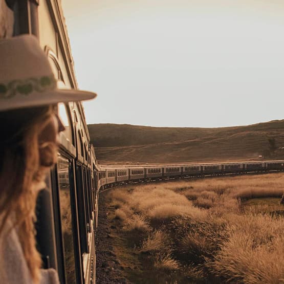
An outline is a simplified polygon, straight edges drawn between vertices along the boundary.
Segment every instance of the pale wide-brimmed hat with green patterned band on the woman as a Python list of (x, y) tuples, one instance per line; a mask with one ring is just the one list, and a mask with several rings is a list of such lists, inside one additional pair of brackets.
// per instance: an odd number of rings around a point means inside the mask
[(96, 96), (92, 92), (58, 89), (49, 60), (35, 36), (0, 40), (0, 111)]

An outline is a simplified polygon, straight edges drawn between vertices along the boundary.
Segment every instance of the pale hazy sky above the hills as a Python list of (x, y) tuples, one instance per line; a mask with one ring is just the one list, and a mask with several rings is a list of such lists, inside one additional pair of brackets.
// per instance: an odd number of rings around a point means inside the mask
[(283, 0), (62, 0), (88, 123), (284, 118)]

